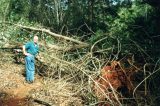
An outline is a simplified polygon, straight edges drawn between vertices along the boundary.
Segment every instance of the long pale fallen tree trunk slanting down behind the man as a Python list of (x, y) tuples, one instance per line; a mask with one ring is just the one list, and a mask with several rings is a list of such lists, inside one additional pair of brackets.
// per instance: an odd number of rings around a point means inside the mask
[[(53, 33), (53, 32), (51, 32), (51, 31), (48, 30), (48, 29), (28, 27), (28, 26), (23, 26), (23, 25), (19, 25), (19, 24), (14, 24), (14, 25), (15, 25), (15, 26), (18, 26), (18, 27), (21, 27), (21, 28), (24, 28), (24, 29), (30, 29), (30, 30), (34, 30), (34, 31), (45, 32), (45, 33), (48, 33), (49, 35), (52, 35), (52, 36), (54, 36), (54, 37), (58, 37), (58, 38), (62, 38), (62, 39), (68, 40), (68, 41), (72, 41), (72, 42), (74, 42), (74, 43), (77, 43), (77, 44), (80, 44), (80, 45), (84, 45), (85, 47), (88, 46), (87, 43), (78, 41), (78, 40), (76, 40), (76, 39), (73, 39), (73, 38), (70, 38), (70, 37), (67, 37), (67, 36), (63, 36), (63, 35), (60, 35), (60, 34)], [(84, 47), (84, 46), (83, 46), (83, 47)]]

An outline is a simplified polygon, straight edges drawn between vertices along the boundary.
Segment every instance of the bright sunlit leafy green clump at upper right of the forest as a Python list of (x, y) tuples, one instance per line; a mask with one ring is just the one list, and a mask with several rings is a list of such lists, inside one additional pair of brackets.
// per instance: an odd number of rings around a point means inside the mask
[[(110, 25), (109, 32), (114, 37), (120, 37), (124, 39), (130, 39), (134, 36), (134, 27), (139, 26), (136, 23), (138, 18), (143, 18), (145, 20), (148, 11), (144, 10), (148, 8), (151, 11), (149, 5), (132, 5), (131, 8), (122, 7), (118, 11), (118, 17)], [(141, 20), (143, 21), (143, 20)]]

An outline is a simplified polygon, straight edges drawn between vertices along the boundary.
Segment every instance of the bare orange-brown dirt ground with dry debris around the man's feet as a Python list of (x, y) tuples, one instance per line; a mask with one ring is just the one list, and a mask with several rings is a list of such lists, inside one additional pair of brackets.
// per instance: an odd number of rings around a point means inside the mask
[[(24, 64), (14, 63), (11, 54), (0, 53), (0, 106), (82, 106), (65, 81), (35, 75), (35, 82), (25, 82)], [(63, 87), (62, 87), (63, 86)]]

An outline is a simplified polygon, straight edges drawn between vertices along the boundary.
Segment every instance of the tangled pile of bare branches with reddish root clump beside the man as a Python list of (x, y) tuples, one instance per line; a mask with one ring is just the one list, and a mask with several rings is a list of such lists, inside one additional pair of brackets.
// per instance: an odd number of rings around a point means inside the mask
[[(30, 27), (22, 28), (34, 30)], [(33, 98), (43, 98), (50, 104), (60, 104), (63, 101), (66, 105), (79, 106), (144, 104), (145, 100), (137, 98), (143, 98), (147, 92), (147, 83), (143, 80), (146, 77), (146, 73), (143, 74), (145, 68), (143, 64), (138, 67), (135, 65), (138, 63), (133, 61), (134, 55), (131, 58), (119, 57), (121, 46), (118, 40), (117, 54), (112, 56), (113, 54), (110, 54), (113, 52), (112, 47), (101, 50), (96, 48), (96, 44), (107, 37), (96, 41), (91, 47), (81, 46), (82, 43), (75, 45), (73, 42), (61, 39), (58, 39), (55, 45), (41, 38), (40, 58), (37, 60), (36, 71), (42, 76), (45, 86), (33, 92)], [(22, 46), (19, 43), (9, 42), (3, 47), (11, 47), (12, 44)], [(79, 49), (84, 47), (87, 48)], [(111, 63), (111, 66), (108, 66), (108, 63)], [(97, 77), (98, 80), (95, 80)], [(136, 81), (137, 79), (140, 80)], [(145, 84), (140, 83), (141, 81)], [(137, 93), (137, 87), (140, 85), (143, 95)], [(132, 100), (128, 103), (129, 100), (125, 100), (126, 98)], [(52, 101), (54, 103), (51, 103)]]

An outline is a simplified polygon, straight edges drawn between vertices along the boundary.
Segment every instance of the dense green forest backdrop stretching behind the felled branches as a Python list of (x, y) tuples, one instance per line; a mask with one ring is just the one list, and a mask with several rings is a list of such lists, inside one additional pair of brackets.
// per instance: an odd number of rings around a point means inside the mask
[[(86, 23), (96, 33), (90, 35), (89, 40), (85, 39), (91, 44), (104, 37), (110, 37), (109, 43), (104, 42), (105, 40), (98, 43), (97, 46), (100, 48), (102, 45), (106, 48), (115, 45), (117, 39), (122, 45), (129, 46), (133, 40), (142, 45), (145, 51), (155, 44), (158, 45), (157, 41), (150, 39), (151, 35), (158, 34), (158, 28), (155, 27), (158, 26), (158, 22), (153, 15), (155, 10), (147, 4), (136, 1), (2, 0), (0, 3), (5, 4), (1, 7), (1, 18), (10, 22), (25, 25), (38, 23), (58, 32), (63, 26), (66, 26), (64, 31), (68, 31)], [(4, 7), (7, 5), (9, 7), (5, 10)], [(83, 26), (81, 30), (90, 32)], [(70, 32), (74, 34), (77, 31)], [(77, 35), (81, 34), (83, 33)], [(122, 47), (122, 52), (135, 51), (135, 46), (130, 49), (127, 46)]]

